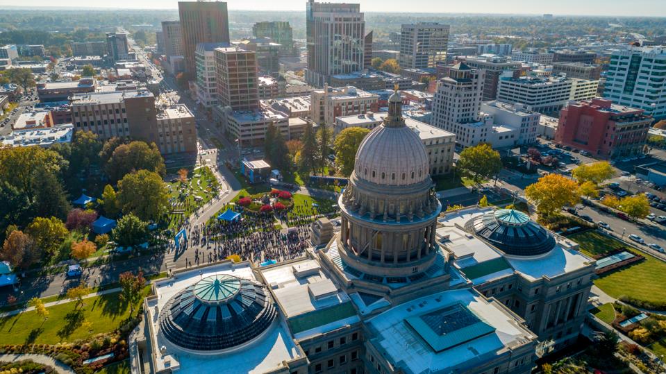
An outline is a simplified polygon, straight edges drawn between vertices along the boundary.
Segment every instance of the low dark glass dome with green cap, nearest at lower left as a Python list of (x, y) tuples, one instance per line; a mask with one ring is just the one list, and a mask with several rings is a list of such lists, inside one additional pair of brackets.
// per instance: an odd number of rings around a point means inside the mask
[(263, 284), (210, 275), (167, 301), (160, 312), (160, 330), (183, 348), (225, 350), (258, 337), (275, 316)]

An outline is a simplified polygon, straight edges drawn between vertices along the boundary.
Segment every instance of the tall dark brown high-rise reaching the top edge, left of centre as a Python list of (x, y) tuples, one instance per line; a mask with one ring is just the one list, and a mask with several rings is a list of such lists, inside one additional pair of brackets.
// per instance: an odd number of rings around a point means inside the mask
[(185, 71), (194, 77), (194, 51), (199, 43), (228, 43), (229, 21), (222, 1), (178, 1), (178, 15), (183, 35)]

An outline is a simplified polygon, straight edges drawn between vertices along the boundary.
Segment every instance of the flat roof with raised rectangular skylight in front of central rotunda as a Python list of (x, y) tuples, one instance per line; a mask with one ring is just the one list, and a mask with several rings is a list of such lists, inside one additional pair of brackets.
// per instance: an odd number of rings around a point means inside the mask
[(375, 348), (405, 373), (468, 371), (481, 357), (536, 339), (499, 303), (469, 289), (397, 305), (369, 319), (368, 326)]

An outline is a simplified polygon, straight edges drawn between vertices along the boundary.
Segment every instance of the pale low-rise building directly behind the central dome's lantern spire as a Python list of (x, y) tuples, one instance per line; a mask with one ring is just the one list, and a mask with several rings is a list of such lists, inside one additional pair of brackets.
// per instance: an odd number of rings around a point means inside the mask
[[(388, 113), (385, 112), (367, 112), (365, 114), (338, 117), (335, 119), (333, 132), (337, 134), (345, 128), (350, 127), (361, 127), (372, 130), (382, 124), (387, 116)], [(410, 117), (404, 116), (404, 119), (408, 128), (419, 135), (423, 145), (426, 147), (428, 161), (430, 162), (430, 173), (432, 175), (449, 173), (453, 167), (456, 134), (449, 133), (435, 126), (430, 126)]]

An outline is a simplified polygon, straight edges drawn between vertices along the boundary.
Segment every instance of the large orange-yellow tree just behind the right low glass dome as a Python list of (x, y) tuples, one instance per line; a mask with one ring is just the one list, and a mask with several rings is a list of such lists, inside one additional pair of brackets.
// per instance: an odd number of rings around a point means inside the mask
[(528, 185), (525, 195), (537, 205), (539, 214), (551, 216), (565, 205), (578, 203), (578, 185), (560, 174), (547, 174), (538, 182)]

